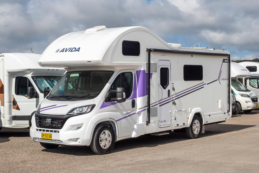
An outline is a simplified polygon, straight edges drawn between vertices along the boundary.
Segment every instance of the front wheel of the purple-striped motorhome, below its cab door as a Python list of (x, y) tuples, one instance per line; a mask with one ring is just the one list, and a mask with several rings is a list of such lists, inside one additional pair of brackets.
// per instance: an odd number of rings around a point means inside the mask
[(114, 147), (115, 135), (109, 125), (100, 124), (93, 132), (90, 147), (95, 154), (108, 154)]

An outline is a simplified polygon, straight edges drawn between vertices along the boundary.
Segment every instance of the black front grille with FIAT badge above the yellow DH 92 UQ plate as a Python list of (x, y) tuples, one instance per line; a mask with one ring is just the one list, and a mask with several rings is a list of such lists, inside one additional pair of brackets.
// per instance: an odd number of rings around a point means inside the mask
[(46, 118), (37, 117), (38, 126), (47, 129), (61, 129), (64, 119), (51, 119), (50, 124)]

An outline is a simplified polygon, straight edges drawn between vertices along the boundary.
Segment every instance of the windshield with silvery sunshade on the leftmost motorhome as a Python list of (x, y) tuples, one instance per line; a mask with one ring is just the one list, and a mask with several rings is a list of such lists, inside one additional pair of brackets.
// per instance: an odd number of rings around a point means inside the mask
[(44, 88), (49, 87), (49, 89), (52, 89), (61, 76), (33, 76), (32, 79), (36, 86), (39, 88), (40, 92), (44, 92)]

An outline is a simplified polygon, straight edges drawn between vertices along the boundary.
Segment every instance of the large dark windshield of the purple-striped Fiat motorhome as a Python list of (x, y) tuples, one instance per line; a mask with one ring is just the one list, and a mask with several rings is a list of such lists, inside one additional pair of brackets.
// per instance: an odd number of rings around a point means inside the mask
[(49, 93), (48, 99), (93, 99), (112, 74), (113, 71), (67, 72)]

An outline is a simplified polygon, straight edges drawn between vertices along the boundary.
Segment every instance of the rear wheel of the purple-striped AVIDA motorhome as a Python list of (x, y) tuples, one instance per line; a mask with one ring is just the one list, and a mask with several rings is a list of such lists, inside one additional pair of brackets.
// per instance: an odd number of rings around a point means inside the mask
[(190, 127), (186, 127), (185, 132), (191, 139), (200, 137), (202, 134), (202, 120), (198, 115), (194, 115)]

